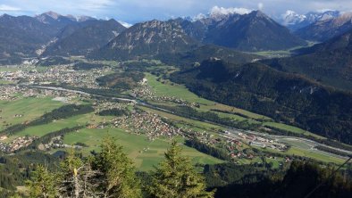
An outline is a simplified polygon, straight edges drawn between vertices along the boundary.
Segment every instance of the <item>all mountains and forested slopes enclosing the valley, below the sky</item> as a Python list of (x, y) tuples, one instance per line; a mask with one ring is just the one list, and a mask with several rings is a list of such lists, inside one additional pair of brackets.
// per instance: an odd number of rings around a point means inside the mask
[[(178, 66), (180, 72), (172, 74), (172, 80), (197, 95), (323, 136), (346, 137), (344, 141), (351, 143), (351, 15), (290, 14), (297, 18), (287, 18), (288, 24), (309, 24), (292, 32), (261, 11), (144, 21), (130, 28), (114, 20), (54, 12), (3, 15), (0, 62), (38, 58), (67, 63), (63, 57), (71, 55), (114, 61), (156, 59)], [(307, 45), (306, 40), (322, 43), (299, 48), (286, 58), (257, 55), (289, 51)], [(338, 130), (342, 132), (336, 134)]]

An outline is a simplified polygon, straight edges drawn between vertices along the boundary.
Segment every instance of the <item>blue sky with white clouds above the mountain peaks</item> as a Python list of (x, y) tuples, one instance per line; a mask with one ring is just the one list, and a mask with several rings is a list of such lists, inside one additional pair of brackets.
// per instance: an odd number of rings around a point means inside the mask
[(349, 12), (352, 11), (352, 0), (0, 0), (0, 14), (35, 15), (54, 11), (136, 23), (196, 16), (210, 12), (214, 6), (261, 9), (272, 17), (279, 17), (286, 10), (298, 13), (324, 9)]

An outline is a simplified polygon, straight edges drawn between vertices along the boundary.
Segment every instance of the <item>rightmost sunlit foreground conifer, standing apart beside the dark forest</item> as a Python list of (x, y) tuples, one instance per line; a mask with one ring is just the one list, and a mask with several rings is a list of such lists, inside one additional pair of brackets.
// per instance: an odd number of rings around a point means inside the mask
[(181, 156), (177, 142), (165, 153), (165, 159), (152, 173), (148, 192), (160, 198), (214, 197), (214, 192), (205, 191), (205, 178), (197, 173), (188, 157)]

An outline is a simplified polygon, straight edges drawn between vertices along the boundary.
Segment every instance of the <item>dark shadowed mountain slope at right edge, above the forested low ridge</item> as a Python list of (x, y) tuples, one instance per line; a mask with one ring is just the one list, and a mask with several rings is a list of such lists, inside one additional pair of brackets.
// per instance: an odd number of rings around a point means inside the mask
[(328, 86), (352, 90), (352, 29), (296, 53), (298, 55), (263, 62), (277, 70), (300, 73)]

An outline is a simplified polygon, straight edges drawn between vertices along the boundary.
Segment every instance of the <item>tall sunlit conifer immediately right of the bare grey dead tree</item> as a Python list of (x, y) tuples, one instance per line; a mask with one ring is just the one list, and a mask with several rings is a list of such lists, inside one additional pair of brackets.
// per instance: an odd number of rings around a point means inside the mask
[(96, 154), (93, 168), (101, 172), (99, 191), (104, 197), (142, 197), (140, 181), (135, 175), (132, 161), (123, 153), (122, 146), (108, 136)]

